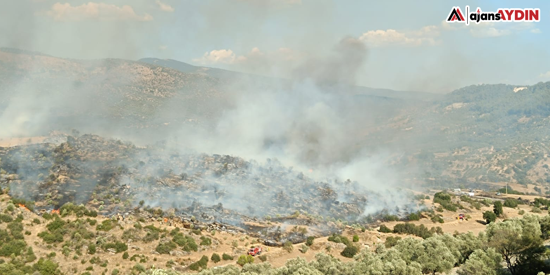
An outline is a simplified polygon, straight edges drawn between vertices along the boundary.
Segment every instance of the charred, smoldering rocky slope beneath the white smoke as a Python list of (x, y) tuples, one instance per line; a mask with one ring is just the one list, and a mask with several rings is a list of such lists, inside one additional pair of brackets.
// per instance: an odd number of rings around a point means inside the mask
[[(354, 221), (369, 197), (351, 180), (317, 182), (268, 159), (264, 163), (222, 155), (175, 153), (162, 144), (136, 147), (96, 135), (67, 136), (59, 145), (0, 148), (2, 188), (36, 209), (66, 202), (104, 215), (136, 206), (160, 207), (204, 221), (240, 224), (299, 211), (313, 217)], [(162, 211), (161, 211), (162, 212)]]

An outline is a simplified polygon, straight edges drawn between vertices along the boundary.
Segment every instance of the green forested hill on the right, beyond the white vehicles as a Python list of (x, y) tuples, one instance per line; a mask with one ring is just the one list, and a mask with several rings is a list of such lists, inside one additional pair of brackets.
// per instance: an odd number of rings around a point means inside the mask
[(421, 129), (410, 138), (424, 138), (416, 156), (438, 180), (547, 184), (549, 116), (550, 82), (483, 84), (445, 95), (408, 127)]

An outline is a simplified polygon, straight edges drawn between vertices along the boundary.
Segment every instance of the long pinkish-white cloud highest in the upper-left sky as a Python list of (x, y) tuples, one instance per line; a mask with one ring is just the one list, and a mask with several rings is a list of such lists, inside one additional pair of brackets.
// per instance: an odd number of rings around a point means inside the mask
[(55, 3), (47, 15), (56, 21), (83, 21), (83, 20), (102, 20), (102, 21), (151, 21), (151, 15), (145, 13), (138, 15), (129, 5), (118, 7), (113, 4), (89, 2), (78, 6), (69, 3)]

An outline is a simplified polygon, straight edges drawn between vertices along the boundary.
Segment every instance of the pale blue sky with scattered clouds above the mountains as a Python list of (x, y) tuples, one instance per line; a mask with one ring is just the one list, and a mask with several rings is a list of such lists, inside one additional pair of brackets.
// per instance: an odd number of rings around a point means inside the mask
[[(91, 0), (95, 1), (95, 0)], [(460, 3), (459, 3), (460, 2)], [(171, 58), (291, 78), (364, 43), (353, 84), (450, 92), (550, 80), (550, 2), (328, 0), (18, 0), (0, 2), (0, 46), (62, 58)], [(540, 8), (540, 22), (446, 23), (455, 5)], [(353, 61), (350, 61), (353, 62)]]

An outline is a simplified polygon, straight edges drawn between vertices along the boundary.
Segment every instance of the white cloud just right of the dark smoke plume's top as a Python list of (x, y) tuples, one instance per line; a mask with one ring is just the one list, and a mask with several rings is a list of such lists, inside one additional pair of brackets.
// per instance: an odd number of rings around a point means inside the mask
[(359, 37), (370, 47), (384, 46), (421, 46), (436, 45), (438, 41), (434, 38), (439, 36), (437, 26), (425, 26), (417, 31), (399, 32), (397, 30), (376, 30), (367, 31)]

